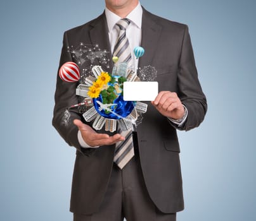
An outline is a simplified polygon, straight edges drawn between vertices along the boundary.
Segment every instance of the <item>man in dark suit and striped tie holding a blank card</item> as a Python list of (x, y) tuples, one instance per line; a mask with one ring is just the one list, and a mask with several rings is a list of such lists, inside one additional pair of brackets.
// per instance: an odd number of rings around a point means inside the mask
[[(188, 27), (152, 15), (138, 0), (105, 3), (98, 18), (64, 33), (60, 66), (72, 61), (68, 46), (99, 44), (112, 52), (111, 61), (154, 66), (160, 92), (136, 133), (94, 131), (75, 112), (74, 123), (61, 124), (65, 109), (78, 102), (77, 83), (57, 76), (53, 126), (77, 149), (70, 212), (75, 221), (173, 221), (184, 209), (176, 129), (199, 126), (207, 111)], [(146, 51), (140, 59), (132, 53), (138, 45)]]

